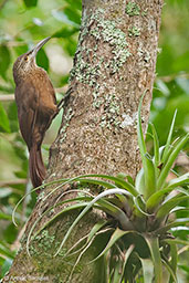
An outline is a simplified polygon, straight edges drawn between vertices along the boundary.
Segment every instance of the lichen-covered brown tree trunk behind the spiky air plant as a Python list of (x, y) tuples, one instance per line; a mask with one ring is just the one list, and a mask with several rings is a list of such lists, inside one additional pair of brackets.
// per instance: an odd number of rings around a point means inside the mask
[[(71, 94), (51, 148), (46, 181), (83, 174), (116, 176), (125, 172), (135, 178), (140, 168), (137, 108), (146, 91), (143, 106), (146, 129), (161, 6), (162, 0), (83, 0), (81, 32), (71, 71)], [(45, 189), (44, 195), (51, 189), (52, 186)], [(9, 282), (11, 276), (12, 281), (20, 277), (17, 282), (23, 282), (21, 277), (24, 282), (69, 282), (76, 256), (64, 258), (65, 251), (86, 235), (97, 219), (105, 217), (104, 213), (92, 211), (81, 220), (57, 256), (53, 258), (53, 254), (76, 212), (56, 218), (39, 233), (29, 247), (31, 256), (25, 250), (27, 235), (34, 221), (53, 206), (63, 190), (60, 188), (45, 201), (43, 193), (40, 195), (22, 248), (3, 282)], [(36, 224), (38, 229), (60, 209), (62, 207), (49, 211)], [(106, 282), (103, 260), (86, 264), (99, 251), (101, 242), (87, 250), (70, 282)]]

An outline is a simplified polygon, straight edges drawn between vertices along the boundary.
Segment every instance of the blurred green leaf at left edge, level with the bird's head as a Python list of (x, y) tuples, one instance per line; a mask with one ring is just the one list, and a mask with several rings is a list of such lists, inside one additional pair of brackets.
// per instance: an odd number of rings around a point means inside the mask
[(6, 80), (7, 71), (11, 62), (10, 51), (6, 45), (0, 45), (0, 75)]

